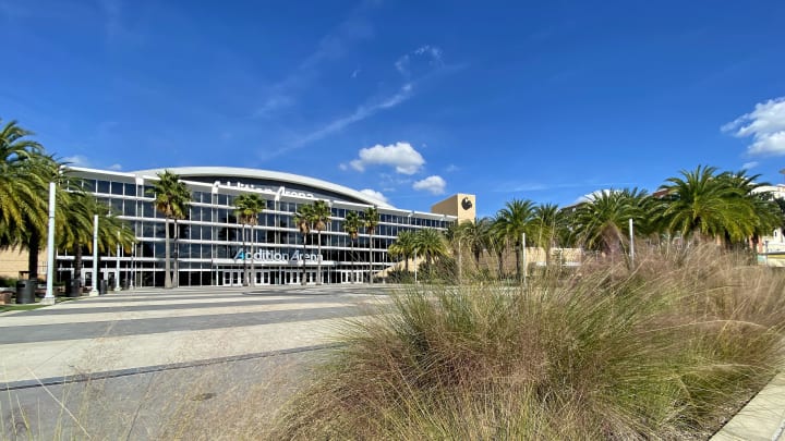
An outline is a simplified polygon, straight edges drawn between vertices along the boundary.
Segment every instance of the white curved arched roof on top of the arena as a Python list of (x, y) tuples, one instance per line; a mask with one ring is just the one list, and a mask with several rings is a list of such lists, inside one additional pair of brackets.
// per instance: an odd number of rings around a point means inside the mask
[(391, 205), (382, 200), (374, 199), (362, 192), (346, 187), (343, 185), (334, 184), (331, 182), (317, 180), (315, 177), (303, 176), (300, 174), (283, 173), (270, 170), (259, 169), (246, 169), (240, 167), (170, 167), (165, 169), (150, 169), (150, 170), (138, 170), (129, 172), (136, 176), (155, 176), (158, 173), (162, 173), (165, 170), (169, 170), (174, 174), (183, 176), (188, 181), (188, 176), (231, 176), (231, 177), (247, 177), (247, 179), (261, 179), (280, 181), (283, 183), (307, 185), (315, 188), (323, 188), (329, 192), (346, 195), (347, 197), (362, 200), (369, 205), (376, 206), (379, 208), (395, 208)]

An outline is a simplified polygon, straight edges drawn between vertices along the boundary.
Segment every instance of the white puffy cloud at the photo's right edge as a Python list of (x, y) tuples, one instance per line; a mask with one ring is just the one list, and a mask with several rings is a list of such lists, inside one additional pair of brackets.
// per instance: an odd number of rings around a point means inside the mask
[(750, 155), (785, 155), (785, 97), (756, 105), (754, 110), (722, 126), (737, 137), (752, 137)]

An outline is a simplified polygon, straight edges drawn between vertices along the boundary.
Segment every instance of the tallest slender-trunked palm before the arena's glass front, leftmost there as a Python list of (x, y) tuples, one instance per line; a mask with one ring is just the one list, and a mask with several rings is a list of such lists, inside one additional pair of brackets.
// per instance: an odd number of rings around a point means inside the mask
[[(155, 195), (155, 207), (165, 218), (165, 277), (164, 287), (172, 287), (171, 279), (171, 250), (169, 244), (169, 220), (185, 219), (188, 207), (191, 201), (191, 192), (188, 186), (180, 181), (180, 176), (165, 170), (158, 173), (158, 182), (153, 188), (148, 189), (148, 194)], [(177, 231), (174, 232), (177, 235)]]

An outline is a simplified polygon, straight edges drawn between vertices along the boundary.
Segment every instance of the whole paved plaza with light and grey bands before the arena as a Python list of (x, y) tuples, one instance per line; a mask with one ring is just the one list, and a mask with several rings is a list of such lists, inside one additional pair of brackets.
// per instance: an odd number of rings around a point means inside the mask
[(381, 285), (140, 290), (0, 315), (0, 438), (169, 438), (183, 402), (206, 416), (259, 384), (273, 412), (340, 323), (384, 294)]

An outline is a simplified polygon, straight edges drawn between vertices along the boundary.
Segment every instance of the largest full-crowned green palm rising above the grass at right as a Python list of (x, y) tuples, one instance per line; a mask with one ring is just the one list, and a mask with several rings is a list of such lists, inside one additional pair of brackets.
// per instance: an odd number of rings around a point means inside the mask
[(730, 185), (714, 167), (683, 170), (660, 188), (667, 192), (664, 218), (667, 229), (683, 237), (723, 237), (736, 241), (752, 235), (754, 212), (745, 199), (746, 188)]

